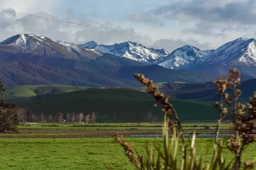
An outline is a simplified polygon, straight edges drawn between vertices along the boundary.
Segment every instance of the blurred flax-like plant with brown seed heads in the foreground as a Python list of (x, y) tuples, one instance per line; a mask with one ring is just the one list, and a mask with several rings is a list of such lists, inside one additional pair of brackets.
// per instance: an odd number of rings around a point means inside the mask
[[(213, 106), (217, 108), (220, 116), (215, 130), (212, 161), (208, 162), (207, 165), (202, 163), (201, 156), (198, 157), (196, 155), (195, 130), (190, 142), (187, 143), (185, 141), (180, 119), (173, 105), (169, 103), (168, 96), (160, 93), (159, 89), (153, 85), (153, 81), (145, 78), (143, 74), (134, 74), (134, 77), (140, 83), (147, 86), (147, 93), (154, 96), (156, 100), (155, 105), (160, 104), (163, 106), (162, 111), (164, 113), (163, 152), (160, 150), (160, 147), (154, 145), (157, 155), (149, 151), (147, 144), (145, 144), (146, 155), (144, 157), (135, 154), (131, 143), (125, 142), (117, 134), (114, 135), (114, 139), (123, 147), (125, 155), (137, 170), (241, 170), (241, 167), (247, 170), (254, 168), (255, 161), (244, 161), (242, 165), (241, 155), (248, 144), (256, 142), (256, 136), (253, 135), (256, 119), (256, 92), (249, 99), (247, 105), (238, 102), (241, 96), (241, 90), (238, 89), (241, 74), (236, 68), (230, 68), (227, 76), (218, 78), (215, 81), (220, 102), (214, 102)], [(230, 91), (232, 96), (227, 91)], [(218, 138), (218, 134), (220, 133), (221, 121), (228, 115), (228, 108), (224, 107), (225, 105), (232, 108), (230, 117), (232, 119), (234, 135), (227, 139), (227, 142), (224, 144), (223, 140)], [(169, 129), (172, 130), (173, 134), (171, 142), (169, 142)], [(177, 148), (180, 139), (182, 142), (182, 159), (179, 165), (177, 163), (180, 161), (177, 158)], [(221, 155), (223, 149), (230, 150), (234, 155), (234, 159), (227, 163), (227, 160)], [(106, 167), (108, 170), (111, 170), (110, 167)]]

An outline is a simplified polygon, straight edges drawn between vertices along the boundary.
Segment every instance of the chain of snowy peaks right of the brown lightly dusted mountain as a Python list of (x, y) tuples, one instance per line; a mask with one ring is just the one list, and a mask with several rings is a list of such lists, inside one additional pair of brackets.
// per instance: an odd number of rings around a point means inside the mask
[(113, 45), (90, 41), (79, 46), (175, 70), (224, 75), (227, 74), (228, 67), (235, 67), (247, 77), (256, 77), (256, 39), (253, 38), (239, 38), (215, 50), (205, 51), (192, 45), (184, 45), (169, 52), (164, 49), (146, 48), (131, 41)]

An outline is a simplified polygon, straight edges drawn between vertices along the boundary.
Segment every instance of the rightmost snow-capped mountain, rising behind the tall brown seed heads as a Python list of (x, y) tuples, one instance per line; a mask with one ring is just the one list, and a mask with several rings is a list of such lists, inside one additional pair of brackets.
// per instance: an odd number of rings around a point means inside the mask
[(245, 74), (256, 77), (256, 39), (239, 38), (227, 42), (215, 51), (177, 70), (215, 71), (217, 74), (224, 74), (228, 71), (228, 67), (240, 68)]

